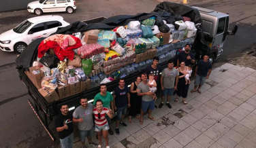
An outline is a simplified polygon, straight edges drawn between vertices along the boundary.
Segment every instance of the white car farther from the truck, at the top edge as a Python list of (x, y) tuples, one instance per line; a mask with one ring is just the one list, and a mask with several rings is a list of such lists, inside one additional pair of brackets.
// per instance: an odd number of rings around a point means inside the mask
[(69, 14), (76, 10), (75, 0), (39, 0), (27, 5), (27, 11), (38, 16), (46, 12), (67, 12)]

